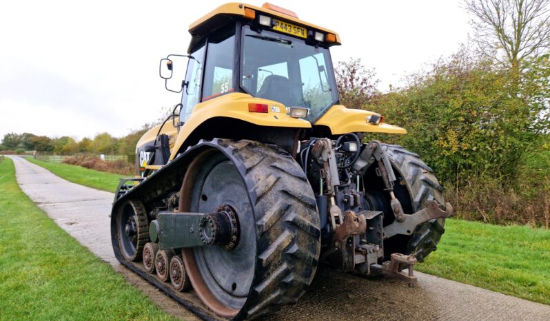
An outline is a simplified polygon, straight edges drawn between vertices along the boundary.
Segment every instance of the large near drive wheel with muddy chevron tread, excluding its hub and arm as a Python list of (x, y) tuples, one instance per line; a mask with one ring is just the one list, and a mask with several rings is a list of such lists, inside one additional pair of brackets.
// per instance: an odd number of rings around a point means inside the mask
[(301, 167), (275, 145), (212, 144), (218, 149), (198, 154), (187, 167), (179, 211), (212, 213), (227, 205), (240, 234), (233, 249), (184, 249), (185, 269), (214, 313), (256, 318), (295, 303), (314, 278), (320, 253), (314, 193)]

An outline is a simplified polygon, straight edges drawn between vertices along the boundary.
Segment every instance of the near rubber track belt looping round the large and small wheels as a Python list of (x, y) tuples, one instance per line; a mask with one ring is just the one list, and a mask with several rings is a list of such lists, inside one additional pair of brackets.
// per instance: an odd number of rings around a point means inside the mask
[[(177, 187), (178, 181), (174, 176), (162, 175), (161, 172), (175, 165), (184, 165), (196, 152), (212, 147), (225, 154), (243, 176), (256, 221), (258, 256), (255, 276), (247, 301), (234, 319), (257, 318), (281, 305), (296, 303), (315, 275), (320, 254), (320, 221), (307, 177), (283, 149), (255, 141), (235, 142), (220, 138), (200, 141), (178, 156), (172, 166), (165, 166), (154, 174), (162, 177), (161, 180), (156, 179), (156, 183), (145, 184), (141, 188), (138, 186), (123, 199), (141, 195), (147, 200), (158, 200), (164, 193)], [(165, 173), (175, 175), (176, 171)], [(181, 180), (179, 182), (181, 185)], [(145, 186), (147, 188), (144, 189)], [(123, 199), (116, 200), (112, 215)], [(199, 317), (205, 320), (218, 319), (204, 307), (183, 300), (167, 284), (159, 282), (132, 262), (123, 260), (119, 249), (114, 250), (116, 258), (123, 265), (139, 273)]]

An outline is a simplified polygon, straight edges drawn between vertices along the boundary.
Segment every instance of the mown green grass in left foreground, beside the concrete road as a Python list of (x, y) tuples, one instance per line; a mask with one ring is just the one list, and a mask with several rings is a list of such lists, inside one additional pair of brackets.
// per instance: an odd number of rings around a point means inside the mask
[(38, 209), (10, 158), (0, 162), (0, 220), (0, 320), (172, 319)]

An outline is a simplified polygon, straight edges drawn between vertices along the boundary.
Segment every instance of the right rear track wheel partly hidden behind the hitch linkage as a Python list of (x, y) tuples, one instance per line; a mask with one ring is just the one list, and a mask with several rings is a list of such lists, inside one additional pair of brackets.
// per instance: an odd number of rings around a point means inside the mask
[[(382, 144), (391, 166), (394, 167), (396, 182), (394, 191), (396, 197), (400, 200), (405, 214), (413, 214), (419, 211), (428, 200), (437, 200), (440, 204), (445, 204), (443, 198), (443, 187), (439, 185), (434, 171), (420, 160), (417, 154), (409, 152), (407, 149), (398, 145)], [(374, 178), (374, 167), (367, 171), (367, 175)], [(365, 179), (365, 182), (371, 180)], [(368, 187), (368, 186), (367, 186)], [(389, 207), (389, 196), (381, 192), (383, 183), (378, 179), (377, 184), (371, 186), (371, 195), (380, 198), (383, 195), (384, 226), (394, 221), (394, 214)], [(367, 190), (368, 191), (368, 190)], [(419, 262), (423, 262), (432, 251), (436, 250), (442, 234), (445, 232), (445, 218), (438, 220), (429, 220), (424, 222), (414, 230), (410, 236), (397, 235), (385, 240), (384, 253), (389, 256), (391, 253), (404, 253), (414, 255)]]

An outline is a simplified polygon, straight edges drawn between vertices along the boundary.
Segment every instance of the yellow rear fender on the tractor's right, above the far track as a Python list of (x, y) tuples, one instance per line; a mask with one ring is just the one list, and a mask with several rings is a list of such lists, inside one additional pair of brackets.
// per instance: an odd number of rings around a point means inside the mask
[(375, 132), (388, 134), (407, 134), (405, 128), (381, 123), (373, 125), (367, 123), (367, 116), (376, 114), (367, 110), (352, 110), (343, 105), (334, 105), (314, 125), (329, 127), (333, 135), (352, 132)]

